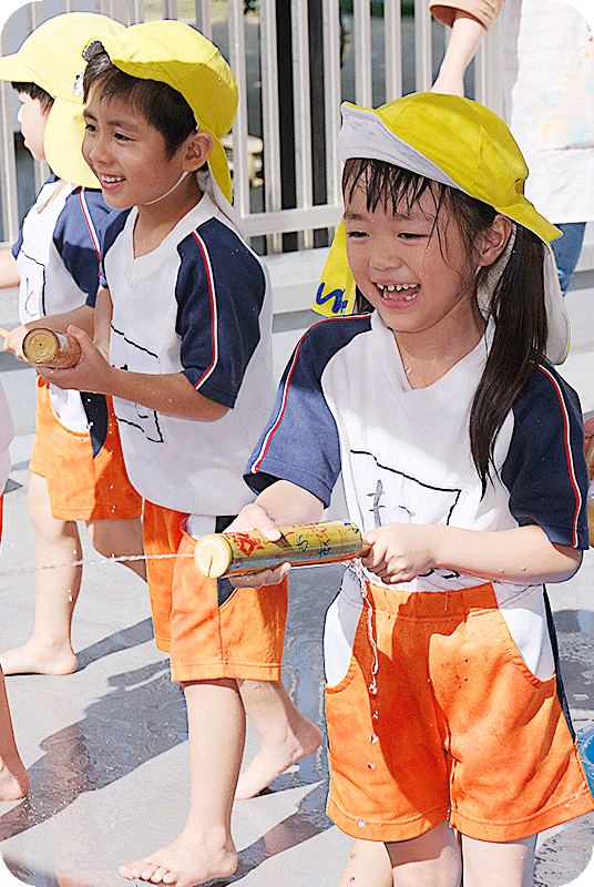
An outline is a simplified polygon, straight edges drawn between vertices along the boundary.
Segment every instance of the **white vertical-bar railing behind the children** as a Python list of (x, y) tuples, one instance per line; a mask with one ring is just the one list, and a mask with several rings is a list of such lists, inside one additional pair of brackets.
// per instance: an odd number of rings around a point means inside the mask
[[(79, 8), (74, 0), (62, 0), (62, 11)], [(124, 24), (145, 19), (183, 17), (195, 24), (215, 43), (225, 45), (225, 53), (237, 78), (239, 85), (239, 108), (233, 128), (233, 166), (235, 204), (244, 218), (248, 236), (266, 235), (267, 251), (280, 252), (283, 233), (298, 232), (299, 246), (310, 247), (314, 243), (313, 232), (317, 228), (332, 228), (340, 215), (340, 164), (336, 152), (336, 136), (340, 124), (341, 64), (340, 64), (340, 0), (322, 0), (321, 49), (324, 53), (324, 82), (316, 83), (315, 93), (324, 100), (325, 144), (326, 153), (322, 163), (326, 166), (325, 203), (314, 204), (313, 170), (313, 134), (311, 123), (311, 68), (310, 68), (310, 29), (308, 22), (308, 0), (290, 0), (290, 26), (293, 34), (293, 111), (294, 135), (290, 151), (295, 160), (296, 208), (283, 210), (284, 170), (279, 135), (279, 90), (286, 91), (287, 84), (279, 83), (277, 57), (277, 22), (275, 0), (259, 0), (258, 17), (244, 16), (244, 0), (227, 0), (225, 6), (216, 7), (212, 0), (95, 0), (89, 8), (96, 9)], [(221, 10), (226, 14), (221, 20)], [(48, 11), (51, 10), (51, 11)], [(34, 28), (48, 14), (55, 13), (55, 3), (37, 0), (27, 4), (28, 28)], [(22, 14), (22, 13), (21, 13)], [(218, 16), (218, 18), (217, 18)], [(247, 81), (246, 68), (246, 21), (249, 27), (257, 27), (257, 44), (259, 51), (260, 86)], [(385, 83), (382, 85), (386, 101), (402, 94), (402, 19), (400, 0), (385, 0), (383, 3), (383, 39), (381, 48), (373, 50), (372, 35), (378, 33), (378, 20), (372, 19), (369, 0), (355, 0), (354, 14), (349, 19), (351, 28), (351, 53), (354, 68), (355, 101), (363, 105), (373, 103), (373, 77), (378, 78), (378, 65), (372, 63), (372, 51), (383, 52)], [(408, 27), (408, 26), (407, 26)], [(412, 26), (411, 26), (412, 27)], [(439, 26), (441, 27), (441, 26)], [(250, 32), (253, 33), (253, 31)], [(427, 90), (432, 83), (432, 35), (436, 23), (431, 21), (427, 0), (417, 0), (413, 23), (414, 88)], [(16, 45), (0, 43), (2, 52), (13, 52), (27, 34), (21, 34)], [(319, 52), (320, 47), (316, 45)], [(498, 82), (498, 29), (490, 32), (483, 43), (475, 63), (475, 96), (479, 101), (501, 113)], [(250, 89), (248, 89), (250, 88)], [(248, 106), (248, 93), (256, 95), (260, 106)], [(288, 94), (288, 91), (287, 91)], [(250, 101), (255, 101), (250, 99)], [(0, 149), (1, 149), (1, 188), (2, 225), (4, 245), (12, 243), (18, 234), (18, 172), (14, 162), (13, 146), (13, 102), (8, 84), (0, 84)], [(248, 136), (249, 120), (262, 119), (263, 173), (264, 184), (250, 182)], [(324, 125), (324, 123), (322, 123)], [(258, 123), (259, 126), (259, 123)], [(288, 149), (284, 145), (283, 151)], [(319, 162), (319, 160), (318, 160)], [(285, 164), (286, 165), (286, 164)], [(47, 174), (47, 167), (35, 166), (35, 186), (39, 187)], [(262, 212), (252, 212), (254, 188), (262, 187), (259, 203)], [(316, 196), (316, 201), (319, 197)]]

